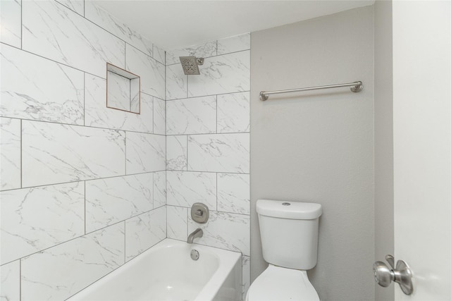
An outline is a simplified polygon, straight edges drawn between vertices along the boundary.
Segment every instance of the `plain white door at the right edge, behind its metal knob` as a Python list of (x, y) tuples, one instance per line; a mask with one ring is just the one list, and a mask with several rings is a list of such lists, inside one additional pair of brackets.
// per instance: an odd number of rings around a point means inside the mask
[(395, 259), (414, 294), (451, 298), (450, 1), (393, 2)]

